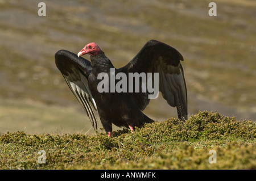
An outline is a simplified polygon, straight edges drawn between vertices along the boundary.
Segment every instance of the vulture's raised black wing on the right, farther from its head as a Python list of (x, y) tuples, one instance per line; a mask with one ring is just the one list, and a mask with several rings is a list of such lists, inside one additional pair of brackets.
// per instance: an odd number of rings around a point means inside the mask
[[(180, 120), (187, 120), (187, 87), (185, 84), (181, 54), (173, 47), (160, 41), (150, 40), (126, 66), (118, 71), (126, 73), (152, 73), (152, 84), (159, 83), (159, 91), (167, 103), (177, 108)], [(158, 82), (154, 82), (158, 73)], [(143, 89), (143, 83), (141, 82)], [(135, 93), (134, 99), (141, 110), (149, 103), (148, 92)]]

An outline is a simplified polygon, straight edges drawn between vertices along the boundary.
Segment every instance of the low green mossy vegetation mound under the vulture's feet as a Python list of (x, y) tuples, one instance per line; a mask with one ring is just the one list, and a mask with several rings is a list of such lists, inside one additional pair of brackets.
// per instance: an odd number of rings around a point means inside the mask
[[(1, 134), (0, 169), (256, 169), (256, 124), (199, 112), (131, 133)], [(46, 163), (39, 163), (39, 150)], [(210, 150), (217, 163), (209, 163)]]

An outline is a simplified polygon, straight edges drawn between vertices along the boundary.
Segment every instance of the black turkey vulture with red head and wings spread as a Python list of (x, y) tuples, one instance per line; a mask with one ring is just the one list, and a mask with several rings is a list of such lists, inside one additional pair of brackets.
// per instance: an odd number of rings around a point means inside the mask
[[(80, 57), (84, 54), (89, 54), (91, 61)], [(139, 75), (151, 73), (148, 74), (151, 75), (151, 84), (159, 87), (163, 98), (170, 106), (177, 108), (179, 119), (187, 120), (187, 88), (180, 60), (183, 61), (183, 57), (175, 48), (156, 40), (148, 41), (133, 60), (119, 69), (114, 68), (96, 43), (87, 44), (78, 54), (68, 50), (59, 50), (55, 54), (57, 68), (85, 109), (94, 130), (96, 132), (98, 130), (94, 113), (96, 110), (109, 137), (112, 134), (112, 123), (117, 127), (130, 128), (133, 132), (134, 127), (140, 128), (144, 123), (153, 121), (142, 112), (150, 102), (150, 92), (145, 91), (146, 85), (142, 78), (139, 82), (137, 79), (140, 91), (134, 91), (134, 87), (130, 89), (130, 84), (129, 91), (123, 89), (127, 88), (124, 85), (127, 82), (132, 82), (135, 86), (136, 80), (134, 82), (131, 80), (134, 77), (128, 76), (131, 73)], [(114, 88), (119, 83), (119, 88), (124, 91), (113, 91), (111, 83), (115, 76), (113, 73), (116, 75), (115, 79), (120, 79), (120, 81), (114, 80)], [(118, 73), (122, 75), (119, 78)], [(99, 78), (100, 74), (106, 77)], [(123, 75), (127, 75), (128, 80), (125, 80)], [(158, 79), (155, 79), (156, 75)], [(103, 82), (103, 78), (107, 81)], [(121, 81), (122, 86), (120, 86)], [(102, 91), (102, 87), (107, 91)]]

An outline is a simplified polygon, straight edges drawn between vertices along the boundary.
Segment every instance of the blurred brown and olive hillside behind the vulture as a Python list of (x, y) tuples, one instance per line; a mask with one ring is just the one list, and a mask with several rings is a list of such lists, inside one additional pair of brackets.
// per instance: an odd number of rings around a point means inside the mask
[[(189, 116), (256, 117), (256, 1), (0, 1), (0, 132), (83, 132), (90, 121), (55, 65), (59, 49), (98, 43), (119, 68), (150, 39), (183, 54)], [(89, 56), (85, 56), (89, 59)], [(111, 103), (110, 103), (111, 106)], [(177, 117), (162, 96), (144, 111)], [(92, 130), (90, 130), (92, 132)], [(92, 132), (93, 133), (93, 132)]]

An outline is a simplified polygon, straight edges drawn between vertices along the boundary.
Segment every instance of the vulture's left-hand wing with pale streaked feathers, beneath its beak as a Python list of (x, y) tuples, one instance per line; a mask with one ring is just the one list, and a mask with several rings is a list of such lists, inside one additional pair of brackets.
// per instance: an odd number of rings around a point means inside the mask
[(60, 70), (69, 88), (86, 111), (94, 131), (98, 130), (98, 121), (92, 106), (97, 111), (96, 103), (88, 86), (88, 76), (92, 67), (90, 61), (68, 50), (59, 50), (55, 53), (55, 63)]

